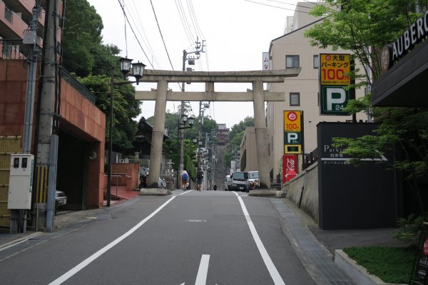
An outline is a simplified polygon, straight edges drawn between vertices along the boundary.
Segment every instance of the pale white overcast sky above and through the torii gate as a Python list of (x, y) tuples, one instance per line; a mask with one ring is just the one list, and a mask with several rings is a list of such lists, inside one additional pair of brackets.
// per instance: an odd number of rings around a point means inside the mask
[[(297, 3), (296, 0), (88, 1), (103, 19), (103, 43), (118, 46), (121, 56), (141, 61), (148, 69), (175, 71), (183, 68), (183, 50), (195, 51), (197, 36), (199, 41), (206, 41), (206, 47), (195, 66), (190, 66), (195, 71), (261, 70), (263, 51), (269, 50), (272, 39), (282, 36), (286, 16), (292, 16)], [(126, 23), (126, 28), (121, 4), (131, 23), (131, 26)], [(186, 64), (186, 67), (189, 66)], [(180, 90), (178, 83), (170, 83), (168, 87)], [(145, 83), (136, 88), (150, 90), (156, 85)], [(188, 91), (204, 88), (202, 83), (185, 85)], [(247, 88), (251, 86), (215, 85), (216, 91), (245, 92)], [(178, 104), (168, 102), (167, 110), (175, 112)], [(198, 105), (192, 103), (193, 115), (198, 115)], [(141, 109), (142, 116), (153, 116), (154, 101), (144, 101)], [(211, 103), (208, 114), (217, 123), (231, 128), (246, 116), (253, 116), (253, 103)]]

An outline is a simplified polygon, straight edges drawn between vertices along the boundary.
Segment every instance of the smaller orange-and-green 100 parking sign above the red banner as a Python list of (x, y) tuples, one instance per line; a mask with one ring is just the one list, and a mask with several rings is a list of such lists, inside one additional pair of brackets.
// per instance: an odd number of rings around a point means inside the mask
[(302, 112), (284, 111), (284, 153), (302, 153)]

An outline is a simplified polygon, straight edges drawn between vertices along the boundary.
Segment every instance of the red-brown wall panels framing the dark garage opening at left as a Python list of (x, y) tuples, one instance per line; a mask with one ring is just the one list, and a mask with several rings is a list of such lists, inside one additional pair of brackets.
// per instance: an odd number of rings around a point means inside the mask
[[(27, 71), (24, 60), (0, 59), (0, 135), (24, 133)], [(97, 154), (96, 159), (88, 162), (87, 207), (103, 207), (106, 116), (66, 81), (61, 81), (60, 115), (60, 128), (89, 142), (91, 151)], [(36, 115), (34, 122), (35, 118)], [(36, 125), (33, 124), (33, 142), (35, 130)]]

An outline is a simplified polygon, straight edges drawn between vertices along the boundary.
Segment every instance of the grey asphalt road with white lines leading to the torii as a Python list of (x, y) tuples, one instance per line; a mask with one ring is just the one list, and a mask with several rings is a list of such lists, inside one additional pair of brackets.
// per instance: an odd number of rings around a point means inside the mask
[(41, 236), (0, 261), (1, 284), (315, 284), (270, 199), (175, 194), (138, 197), (84, 227)]

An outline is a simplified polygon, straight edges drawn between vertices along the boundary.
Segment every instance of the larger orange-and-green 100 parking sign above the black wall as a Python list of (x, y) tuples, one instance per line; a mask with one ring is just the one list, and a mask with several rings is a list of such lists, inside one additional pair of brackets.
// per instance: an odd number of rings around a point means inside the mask
[(320, 54), (320, 114), (349, 115), (343, 108), (350, 99), (349, 90), (343, 89), (351, 84), (350, 54)]

